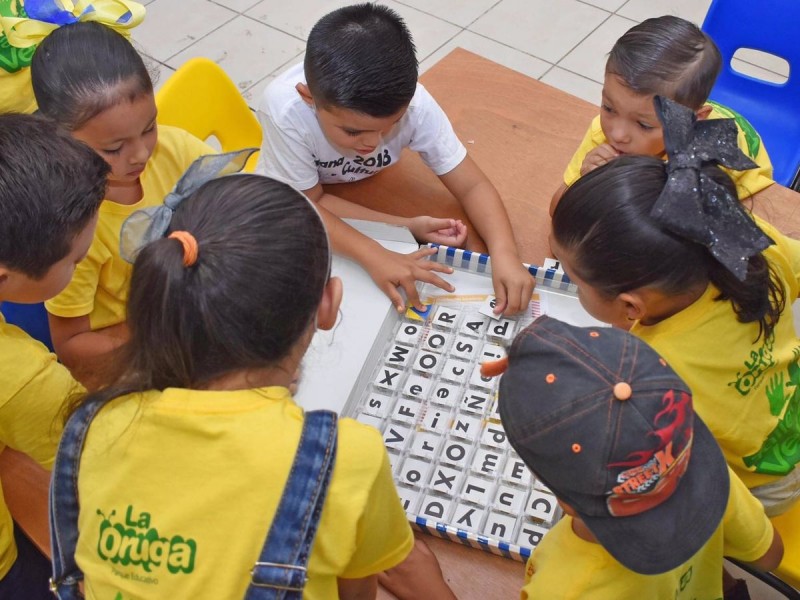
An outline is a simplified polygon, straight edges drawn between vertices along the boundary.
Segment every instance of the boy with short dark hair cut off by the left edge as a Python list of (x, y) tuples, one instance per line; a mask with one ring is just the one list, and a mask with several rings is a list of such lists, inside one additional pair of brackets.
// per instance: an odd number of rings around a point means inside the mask
[[(0, 303), (43, 302), (67, 285), (91, 244), (107, 173), (89, 147), (46, 119), (0, 115)], [(0, 364), (0, 451), (49, 469), (60, 413), (82, 388), (2, 315)], [(49, 576), (50, 562), (16, 530), (0, 490), (0, 598), (52, 598)]]

